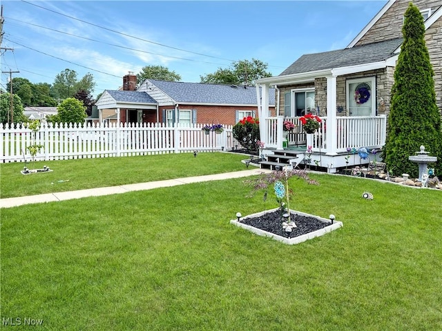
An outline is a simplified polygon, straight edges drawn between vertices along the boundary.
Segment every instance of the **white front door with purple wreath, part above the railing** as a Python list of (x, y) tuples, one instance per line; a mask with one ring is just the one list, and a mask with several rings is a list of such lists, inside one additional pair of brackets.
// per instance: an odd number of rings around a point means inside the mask
[(349, 116), (376, 115), (376, 77), (347, 79)]

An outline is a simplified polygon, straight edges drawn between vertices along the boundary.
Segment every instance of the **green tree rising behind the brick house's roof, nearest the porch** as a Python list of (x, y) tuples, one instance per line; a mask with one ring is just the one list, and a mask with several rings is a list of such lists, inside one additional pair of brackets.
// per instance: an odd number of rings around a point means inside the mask
[(235, 61), (229, 68), (218, 68), (212, 74), (200, 76), (201, 83), (254, 86), (260, 78), (271, 77), (267, 63), (257, 59)]

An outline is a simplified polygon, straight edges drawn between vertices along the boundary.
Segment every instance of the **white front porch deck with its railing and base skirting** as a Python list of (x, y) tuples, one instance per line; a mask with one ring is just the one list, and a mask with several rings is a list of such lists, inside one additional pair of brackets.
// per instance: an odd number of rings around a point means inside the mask
[[(278, 116), (260, 119), (260, 139), (265, 142), (263, 154), (272, 155), (276, 151), (291, 151), (296, 153), (298, 164), (309, 159), (309, 165), (327, 168), (327, 172), (336, 172), (338, 168), (346, 165), (365, 165), (370, 161), (369, 158), (361, 159), (356, 154), (356, 157), (351, 158), (351, 164), (348, 164), (347, 148), (358, 150), (365, 147), (372, 150), (382, 148), (385, 143), (387, 126), (385, 115), (335, 117), (333, 123), (327, 117), (321, 119), (320, 128), (314, 134), (305, 133), (300, 117)], [(282, 130), (284, 121), (291, 121), (295, 125), (294, 130), (287, 135), (287, 139)], [(311, 146), (311, 152), (308, 154), (307, 146)]]

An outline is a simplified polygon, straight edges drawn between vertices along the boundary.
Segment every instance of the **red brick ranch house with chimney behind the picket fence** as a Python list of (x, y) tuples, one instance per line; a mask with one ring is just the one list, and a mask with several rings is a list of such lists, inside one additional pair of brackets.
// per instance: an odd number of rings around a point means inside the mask
[[(124, 77), (123, 88), (132, 88), (136, 76)], [(131, 83), (135, 82), (135, 83)], [(269, 112), (274, 114), (275, 90)], [(185, 83), (146, 79), (135, 90), (105, 90), (97, 101), (99, 120), (108, 123), (154, 123), (173, 125), (222, 123), (235, 125), (240, 119), (258, 114), (255, 87)]]

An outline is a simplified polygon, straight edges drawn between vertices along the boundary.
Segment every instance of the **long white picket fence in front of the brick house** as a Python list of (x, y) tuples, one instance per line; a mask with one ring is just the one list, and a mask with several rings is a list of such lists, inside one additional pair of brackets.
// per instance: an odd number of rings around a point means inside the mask
[(32, 132), (26, 124), (11, 127), (0, 123), (0, 162), (30, 161), (31, 155), (26, 148), (33, 144), (43, 146), (35, 157), (36, 161), (233, 149), (235, 141), (232, 126), (223, 125), (224, 132), (221, 134), (205, 134), (203, 126), (166, 126), (164, 123), (129, 123), (119, 126), (42, 123), (37, 132)]

